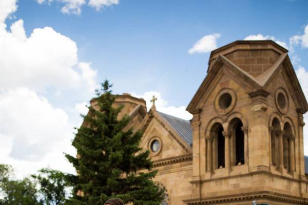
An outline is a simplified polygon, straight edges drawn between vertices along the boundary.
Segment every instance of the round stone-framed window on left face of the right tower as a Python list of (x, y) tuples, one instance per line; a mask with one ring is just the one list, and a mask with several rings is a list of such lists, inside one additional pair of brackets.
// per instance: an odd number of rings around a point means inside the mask
[(236, 94), (230, 88), (220, 90), (215, 98), (215, 109), (218, 114), (224, 115), (233, 110), (236, 104)]

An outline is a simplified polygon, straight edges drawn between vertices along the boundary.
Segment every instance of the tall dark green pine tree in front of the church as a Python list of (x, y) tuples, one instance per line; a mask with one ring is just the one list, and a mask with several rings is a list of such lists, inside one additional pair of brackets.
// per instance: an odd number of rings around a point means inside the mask
[[(125, 203), (158, 205), (164, 190), (152, 178), (149, 151), (142, 152), (140, 131), (124, 131), (129, 122), (126, 115), (118, 120), (123, 107), (114, 108), (112, 85), (107, 80), (96, 90), (98, 110), (89, 107), (84, 123), (75, 134), (72, 145), (78, 156), (66, 155), (77, 175), (71, 175), (72, 198), (68, 204), (104, 204), (108, 198), (121, 198)], [(138, 170), (146, 169), (145, 173)]]

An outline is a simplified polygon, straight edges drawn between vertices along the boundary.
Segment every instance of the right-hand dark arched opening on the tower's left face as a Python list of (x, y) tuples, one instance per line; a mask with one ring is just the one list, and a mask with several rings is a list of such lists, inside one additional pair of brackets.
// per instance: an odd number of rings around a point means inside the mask
[(243, 122), (239, 118), (230, 121), (229, 132), (232, 134), (230, 145), (230, 158), (233, 166), (245, 163)]

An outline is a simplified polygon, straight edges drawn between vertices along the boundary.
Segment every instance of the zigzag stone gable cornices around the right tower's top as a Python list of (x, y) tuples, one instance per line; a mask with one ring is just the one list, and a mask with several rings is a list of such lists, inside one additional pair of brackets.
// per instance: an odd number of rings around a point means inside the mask
[(270, 68), (257, 76), (250, 75), (232, 61), (228, 60), (225, 56), (219, 55), (186, 110), (192, 113), (195, 109), (200, 108), (203, 99), (213, 90), (213, 87), (217, 85), (215, 81), (221, 78), (222, 73), (228, 73), (230, 76), (233, 76), (234, 80), (238, 81), (239, 84), (246, 86), (247, 89), (250, 90), (249, 92), (254, 92), (266, 90), (281, 69), (283, 69), (287, 86), (292, 91), (292, 98), (296, 101), (297, 109), (300, 109), (301, 112), (306, 112), (308, 110), (307, 101), (296, 77), (290, 58), (286, 53), (281, 54)]

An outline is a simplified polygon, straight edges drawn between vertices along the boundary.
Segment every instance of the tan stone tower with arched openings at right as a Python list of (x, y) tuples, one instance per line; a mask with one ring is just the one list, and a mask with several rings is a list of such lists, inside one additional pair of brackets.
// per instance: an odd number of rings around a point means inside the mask
[(184, 201), (304, 203), (307, 110), (287, 50), (272, 40), (240, 40), (211, 52), (187, 107), (194, 115), (192, 194)]

